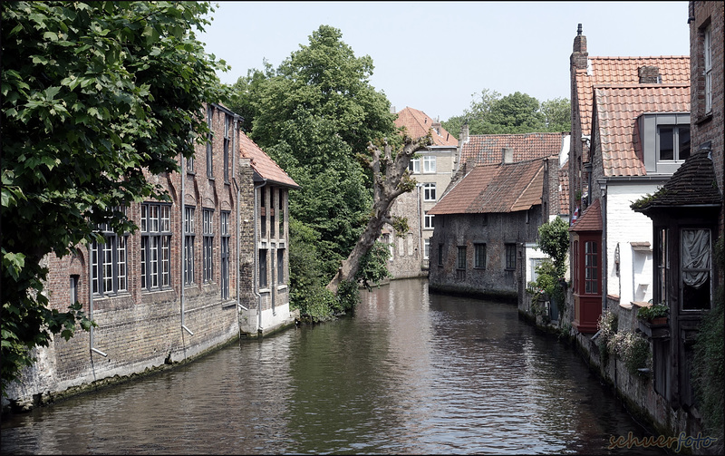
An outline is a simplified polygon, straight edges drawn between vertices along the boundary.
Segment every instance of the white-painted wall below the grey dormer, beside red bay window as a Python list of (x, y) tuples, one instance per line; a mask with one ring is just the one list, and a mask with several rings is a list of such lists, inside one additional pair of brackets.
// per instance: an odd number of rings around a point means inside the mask
[[(608, 295), (620, 296), (621, 304), (652, 298), (652, 220), (634, 212), (630, 205), (655, 184), (612, 184), (606, 195), (606, 277)], [(635, 252), (632, 242), (649, 242), (649, 252)], [(620, 268), (616, 273), (614, 253), (619, 243)]]

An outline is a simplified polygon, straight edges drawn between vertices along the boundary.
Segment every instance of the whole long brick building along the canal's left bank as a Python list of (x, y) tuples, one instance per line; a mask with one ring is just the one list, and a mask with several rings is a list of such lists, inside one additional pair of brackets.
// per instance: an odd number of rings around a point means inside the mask
[[(179, 155), (182, 172), (147, 173), (168, 191), (169, 200), (120, 209), (138, 226), (136, 232), (114, 233), (100, 226), (104, 243), (81, 247), (75, 256), (43, 259), (49, 267), (50, 306), (63, 311), (78, 301), (97, 327), (79, 330), (67, 342), (56, 337), (49, 347), (37, 349), (37, 362), (25, 370), (22, 383), (8, 385), (11, 403), (43, 403), (114, 377), (188, 360), (238, 339), (240, 332), (261, 335), (294, 323), (288, 300), (277, 296), (285, 295), (284, 288), (275, 287), (277, 302), (267, 304), (253, 285), (260, 261), (252, 227), (266, 224), (276, 230), (273, 238), (261, 238), (274, 245), (265, 270), (274, 265), (286, 280), (287, 257), (279, 252), (286, 238), (286, 220), (280, 218), (287, 199), (279, 188), (296, 184), (264, 152), (248, 151), (237, 114), (217, 104), (205, 109), (213, 133), (196, 146), (193, 158)], [(266, 171), (274, 167), (273, 173)], [(260, 179), (266, 180), (257, 183)], [(264, 211), (257, 217), (255, 189), (265, 184), (275, 198), (266, 200), (267, 213), (276, 210), (276, 221), (260, 221)], [(256, 293), (263, 296), (261, 302)], [(259, 309), (267, 308), (268, 321), (261, 321)], [(244, 325), (252, 319), (253, 325)]]

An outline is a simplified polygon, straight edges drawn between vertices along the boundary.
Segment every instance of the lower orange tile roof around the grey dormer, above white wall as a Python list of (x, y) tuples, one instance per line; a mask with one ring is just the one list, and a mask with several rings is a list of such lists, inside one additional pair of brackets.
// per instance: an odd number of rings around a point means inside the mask
[(594, 87), (604, 176), (645, 176), (636, 128), (645, 112), (690, 112), (690, 84)]

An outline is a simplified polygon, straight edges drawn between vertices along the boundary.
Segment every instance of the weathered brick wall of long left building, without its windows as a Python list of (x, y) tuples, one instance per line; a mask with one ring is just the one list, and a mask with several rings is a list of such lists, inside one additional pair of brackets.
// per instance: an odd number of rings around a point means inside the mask
[[(195, 151), (193, 172), (182, 169), (181, 173), (148, 176), (169, 191), (171, 207), (170, 286), (149, 291), (141, 288), (141, 235), (140, 230), (129, 234), (127, 240), (128, 291), (118, 295), (90, 294), (89, 251), (79, 249), (77, 255), (44, 258), (49, 267), (46, 290), (50, 306), (64, 310), (71, 301), (71, 277), (77, 279), (77, 296), (87, 314), (98, 325), (92, 333), (77, 330), (69, 341), (56, 337), (51, 346), (37, 350), (38, 363), (24, 372), (24, 382), (11, 385), (9, 399), (21, 406), (37, 402), (39, 396), (62, 394), (73, 388), (98, 383), (113, 376), (138, 374), (146, 369), (167, 362), (178, 362), (238, 337), (239, 314), (237, 312), (237, 277), (242, 277), (241, 296), (247, 303), (251, 289), (247, 270), (241, 267), (248, 259), (237, 260), (237, 195), (233, 178), (237, 177), (242, 198), (247, 202), (251, 195), (251, 172), (240, 164), (234, 174), (234, 150), (238, 150), (238, 138), (228, 144), (228, 179), (224, 176), (224, 121), (233, 113), (218, 106), (212, 110), (213, 139), (212, 170), (207, 174), (207, 148), (198, 145)], [(232, 124), (233, 125), (233, 124)], [(234, 147), (233, 147), (234, 146)], [(180, 160), (180, 157), (179, 157)], [(247, 167), (248, 168), (248, 167)], [(181, 192), (181, 179), (184, 194)], [(183, 249), (183, 201), (195, 209), (195, 277), (194, 283), (182, 290)], [(213, 274), (211, 280), (202, 280), (202, 209), (212, 209), (213, 225)], [(222, 299), (220, 290), (220, 212), (229, 211), (229, 296)], [(140, 204), (127, 210), (128, 216), (140, 225)], [(244, 220), (244, 216), (242, 217)], [(243, 243), (249, 244), (249, 229), (242, 222)], [(247, 248), (243, 250), (248, 252)], [(237, 272), (238, 271), (238, 272)], [(183, 293), (182, 293), (183, 291)], [(183, 295), (183, 301), (182, 301)], [(240, 297), (241, 297), (240, 296)], [(183, 317), (181, 309), (183, 307)], [(182, 320), (183, 318), (183, 320)], [(183, 325), (190, 332), (182, 329)], [(93, 338), (91, 344), (91, 337)], [(102, 356), (91, 349), (107, 354)], [(41, 400), (42, 401), (42, 400)]]

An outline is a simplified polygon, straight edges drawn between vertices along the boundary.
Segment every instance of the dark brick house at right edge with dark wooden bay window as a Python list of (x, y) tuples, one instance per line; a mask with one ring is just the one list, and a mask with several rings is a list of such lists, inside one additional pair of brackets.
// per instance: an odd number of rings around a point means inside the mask
[[(725, 278), (714, 244), (725, 234), (723, 206), (723, 24), (721, 2), (690, 2), (692, 153), (662, 189), (632, 208), (652, 219), (653, 302), (669, 307), (664, 328), (650, 334), (652, 387), (666, 401), (662, 414), (674, 427), (696, 432), (701, 424), (691, 384), (693, 344), (701, 319)], [(719, 303), (720, 306), (722, 303)], [(643, 328), (646, 331), (646, 327)], [(720, 431), (720, 451), (722, 452)]]

